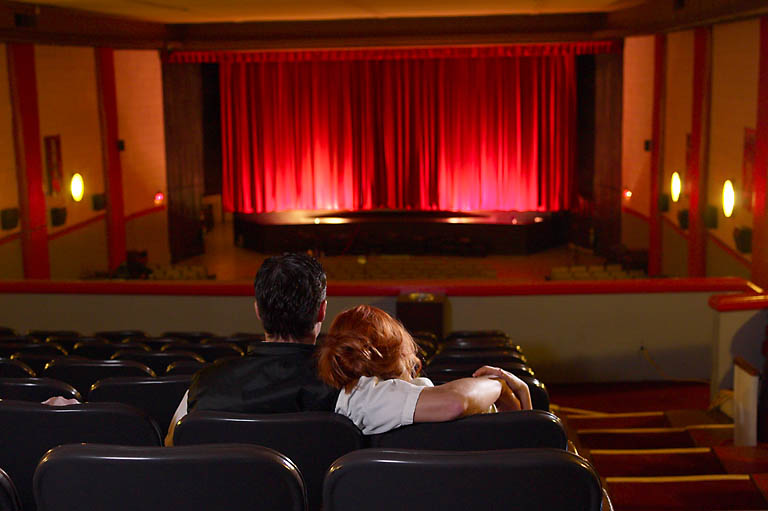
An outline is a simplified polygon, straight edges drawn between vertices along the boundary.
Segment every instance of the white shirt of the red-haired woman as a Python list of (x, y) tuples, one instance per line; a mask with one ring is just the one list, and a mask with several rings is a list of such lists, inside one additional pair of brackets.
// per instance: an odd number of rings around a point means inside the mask
[(381, 380), (361, 376), (347, 393), (336, 400), (336, 413), (349, 417), (364, 435), (375, 435), (413, 424), (419, 395), (425, 387), (434, 387), (429, 378)]

